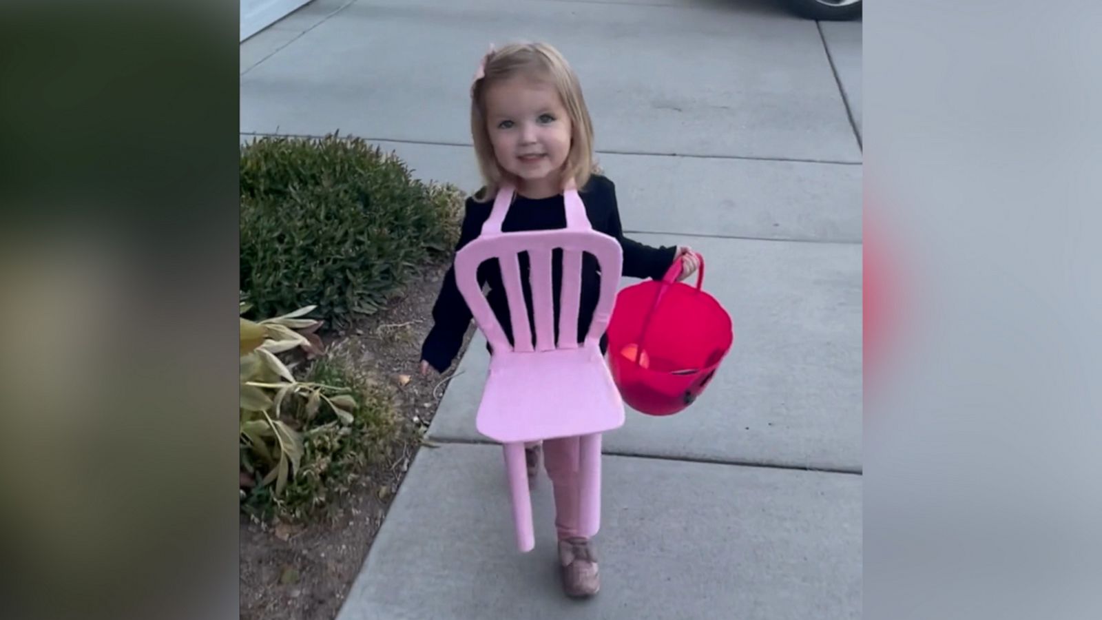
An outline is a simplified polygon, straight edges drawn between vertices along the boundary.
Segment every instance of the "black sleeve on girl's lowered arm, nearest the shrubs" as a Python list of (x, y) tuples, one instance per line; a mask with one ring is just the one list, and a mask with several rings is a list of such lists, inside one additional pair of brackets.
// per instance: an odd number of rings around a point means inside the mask
[[(471, 197), (467, 199), (460, 242), (455, 246), (456, 252), (478, 237), (483, 224), (489, 217), (489, 211), (488, 204), (475, 202)], [(455, 265), (453, 264), (444, 276), (440, 296), (436, 297), (436, 303), (432, 307), (433, 327), (421, 345), (421, 359), (429, 362), (433, 368), (436, 368), (436, 372), (446, 371), (455, 360), (460, 348), (463, 346), (463, 336), (466, 335), (467, 328), (471, 327), (471, 308), (455, 284)]]

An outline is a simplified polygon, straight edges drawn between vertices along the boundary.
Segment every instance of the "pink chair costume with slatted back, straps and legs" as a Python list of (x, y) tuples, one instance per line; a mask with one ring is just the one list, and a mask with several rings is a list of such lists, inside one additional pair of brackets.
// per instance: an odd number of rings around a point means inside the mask
[[(624, 425), (624, 403), (599, 342), (612, 317), (624, 257), (616, 239), (590, 226), (573, 185), (563, 194), (563, 229), (501, 233), (512, 196), (511, 188), (498, 191), (482, 235), (456, 254), (455, 275), (475, 323), (494, 350), (475, 424), (478, 432), (505, 447), (517, 545), (521, 552), (529, 552), (536, 546), (536, 537), (525, 466), (526, 442), (581, 437), (579, 522), (590, 536), (599, 528), (601, 434)], [(551, 281), (552, 252), (557, 248), (563, 250), (558, 343)], [(520, 282), (520, 253), (529, 257), (534, 344)], [(583, 253), (597, 259), (604, 277), (590, 331), (579, 345)], [(478, 266), (493, 258), (501, 266), (514, 346), (478, 285)]]

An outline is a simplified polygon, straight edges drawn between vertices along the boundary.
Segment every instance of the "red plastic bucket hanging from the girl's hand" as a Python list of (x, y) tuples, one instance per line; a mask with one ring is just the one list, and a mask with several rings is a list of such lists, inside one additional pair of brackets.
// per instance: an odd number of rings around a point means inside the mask
[(703, 291), (704, 258), (696, 287), (678, 282), (676, 260), (661, 281), (625, 288), (608, 323), (608, 365), (624, 402), (651, 416), (691, 405), (715, 376), (734, 342), (731, 316)]

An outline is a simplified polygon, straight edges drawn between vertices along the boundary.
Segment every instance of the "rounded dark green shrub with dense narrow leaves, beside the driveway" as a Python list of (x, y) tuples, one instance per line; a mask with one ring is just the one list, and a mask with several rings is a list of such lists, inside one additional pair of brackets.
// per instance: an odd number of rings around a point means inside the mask
[(258, 312), (316, 303), (328, 324), (381, 308), (457, 238), (463, 194), (361, 139), (241, 147), (240, 282)]

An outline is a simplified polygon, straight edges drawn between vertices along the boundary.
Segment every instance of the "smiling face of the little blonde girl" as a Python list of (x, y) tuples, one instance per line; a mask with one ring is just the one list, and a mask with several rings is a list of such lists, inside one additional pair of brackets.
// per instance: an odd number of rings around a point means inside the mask
[(562, 191), (572, 126), (554, 86), (516, 77), (486, 93), (486, 130), (498, 165), (518, 180), (529, 197)]

